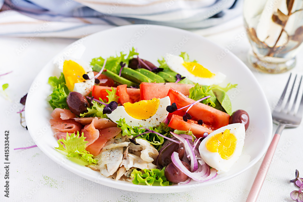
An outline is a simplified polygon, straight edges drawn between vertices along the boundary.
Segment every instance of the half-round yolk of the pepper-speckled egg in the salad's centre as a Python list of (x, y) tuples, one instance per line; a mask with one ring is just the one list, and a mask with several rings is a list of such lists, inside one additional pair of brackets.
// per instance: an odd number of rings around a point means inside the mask
[(124, 103), (124, 109), (128, 115), (136, 119), (148, 119), (156, 114), (159, 107), (159, 98), (141, 100), (135, 103)]

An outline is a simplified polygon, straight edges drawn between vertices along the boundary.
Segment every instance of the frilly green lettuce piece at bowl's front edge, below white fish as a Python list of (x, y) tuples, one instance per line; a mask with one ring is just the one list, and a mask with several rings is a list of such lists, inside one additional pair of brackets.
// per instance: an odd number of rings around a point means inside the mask
[(151, 170), (143, 169), (142, 171), (133, 170), (131, 177), (134, 178), (132, 180), (133, 184), (140, 184), (140, 185), (159, 185), (160, 186), (168, 186), (171, 185), (171, 182), (167, 181), (165, 174), (164, 174), (165, 167), (161, 170), (155, 168)]

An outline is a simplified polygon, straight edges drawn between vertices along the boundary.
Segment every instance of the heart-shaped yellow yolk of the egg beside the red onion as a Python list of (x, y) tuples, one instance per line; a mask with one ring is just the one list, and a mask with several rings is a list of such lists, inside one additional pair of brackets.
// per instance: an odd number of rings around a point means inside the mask
[(210, 137), (205, 146), (210, 152), (218, 152), (223, 159), (229, 159), (236, 149), (237, 138), (226, 129), (224, 132)]

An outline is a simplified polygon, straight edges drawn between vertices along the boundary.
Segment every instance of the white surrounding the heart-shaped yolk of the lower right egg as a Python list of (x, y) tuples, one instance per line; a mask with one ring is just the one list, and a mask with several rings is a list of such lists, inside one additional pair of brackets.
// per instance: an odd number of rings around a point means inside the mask
[[(215, 134), (224, 132), (226, 129), (230, 130), (230, 133), (235, 135), (237, 138), (236, 148), (234, 154), (229, 159), (221, 158), (218, 152), (210, 152), (205, 146), (206, 141)], [(238, 160), (242, 153), (243, 145), (245, 138), (245, 125), (241, 123), (229, 124), (227, 126), (221, 127), (212, 133), (210, 133), (205, 139), (201, 142), (199, 146), (199, 152), (202, 159), (206, 164), (215, 168), (218, 174), (225, 173), (230, 170), (232, 165)]]

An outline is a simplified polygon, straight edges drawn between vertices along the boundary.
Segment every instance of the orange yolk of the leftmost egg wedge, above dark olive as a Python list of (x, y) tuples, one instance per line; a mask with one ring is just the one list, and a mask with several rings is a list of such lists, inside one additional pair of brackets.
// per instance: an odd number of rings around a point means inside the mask
[(86, 74), (82, 66), (72, 60), (65, 60), (63, 63), (63, 75), (68, 90), (73, 91), (75, 83), (85, 81), (82, 77)]

